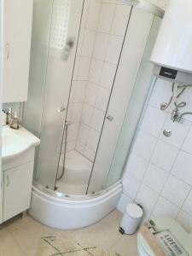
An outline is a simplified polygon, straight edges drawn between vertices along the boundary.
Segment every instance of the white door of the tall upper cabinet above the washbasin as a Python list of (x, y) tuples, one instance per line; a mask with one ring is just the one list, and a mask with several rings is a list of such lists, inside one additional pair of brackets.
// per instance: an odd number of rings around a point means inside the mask
[(27, 100), (32, 3), (32, 0), (4, 1), (3, 102)]

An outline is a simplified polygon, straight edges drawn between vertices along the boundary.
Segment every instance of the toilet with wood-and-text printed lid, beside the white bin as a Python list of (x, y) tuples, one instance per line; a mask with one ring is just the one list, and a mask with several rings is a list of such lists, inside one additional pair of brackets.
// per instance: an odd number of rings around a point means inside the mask
[[(191, 234), (183, 230), (183, 227), (180, 224), (178, 224), (176, 220), (172, 218), (152, 218), (151, 220), (155, 226), (155, 230), (157, 233), (160, 231), (165, 231), (165, 233), (167, 231), (169, 233), (171, 232), (170, 234), (172, 234), (171, 235), (172, 238), (174, 239), (174, 241), (177, 241), (177, 245), (176, 245), (177, 253), (169, 254), (164, 249), (165, 255), (192, 256), (192, 236)], [(161, 234), (164, 234), (164, 233), (161, 233)], [(160, 245), (160, 241), (158, 241), (158, 244)], [(156, 256), (157, 255), (156, 253), (154, 253), (154, 249), (152, 249), (152, 247), (149, 246), (148, 238), (143, 236), (142, 231), (139, 231), (137, 234), (137, 250), (138, 250), (139, 256)], [(158, 255), (160, 255), (160, 253), (158, 253)]]

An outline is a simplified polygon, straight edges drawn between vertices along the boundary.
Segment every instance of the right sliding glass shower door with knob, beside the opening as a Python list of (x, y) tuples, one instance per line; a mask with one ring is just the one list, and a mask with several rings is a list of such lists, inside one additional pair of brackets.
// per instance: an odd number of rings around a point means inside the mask
[(125, 119), (128, 103), (143, 59), (154, 15), (134, 8), (125, 36), (117, 75), (108, 105), (102, 137), (97, 149), (96, 160), (90, 177), (88, 194), (105, 188), (119, 133)]

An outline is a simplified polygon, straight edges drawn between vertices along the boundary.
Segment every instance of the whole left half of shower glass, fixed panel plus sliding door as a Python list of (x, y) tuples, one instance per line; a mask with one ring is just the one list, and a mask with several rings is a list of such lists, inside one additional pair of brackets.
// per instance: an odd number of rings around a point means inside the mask
[[(49, 189), (55, 188), (83, 3), (34, 1), (30, 94), (25, 104), (24, 125), (41, 139), (35, 179)], [(39, 61), (43, 66), (37, 70)], [(35, 109), (32, 102), (36, 103)], [(29, 121), (32, 116), (34, 119)]]

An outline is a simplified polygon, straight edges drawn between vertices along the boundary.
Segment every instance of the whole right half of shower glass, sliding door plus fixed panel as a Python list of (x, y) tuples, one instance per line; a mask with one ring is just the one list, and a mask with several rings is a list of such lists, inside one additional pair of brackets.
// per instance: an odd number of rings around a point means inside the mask
[[(140, 84), (137, 86), (135, 86), (135, 84), (141, 62), (144, 60), (144, 65), (149, 64), (148, 51), (151, 51), (153, 48), (154, 38), (158, 32), (159, 26), (158, 22), (157, 24), (154, 23), (154, 25), (153, 22), (154, 15), (142, 9), (133, 9), (117, 75), (113, 84), (113, 91), (102, 130), (102, 137), (97, 149), (88, 194), (106, 189), (109, 185), (117, 182), (123, 171), (125, 158), (129, 152), (129, 143), (136, 131), (136, 126), (132, 126), (135, 120), (131, 119), (132, 123), (128, 125), (125, 124), (123, 131), (121, 131), (121, 129), (124, 124), (127, 109), (131, 108), (131, 103), (135, 101), (134, 94), (140, 95), (139, 90), (141, 89), (138, 88)], [(153, 26), (154, 29), (151, 30)], [(150, 35), (150, 33), (152, 33), (152, 35)], [(148, 42), (148, 38), (152, 41)], [(148, 56), (147, 60), (143, 59), (144, 56), (146, 57), (146, 52)], [(151, 67), (151, 65), (149, 65), (149, 67)], [(153, 75), (151, 69), (148, 75), (149, 79), (151, 79)], [(149, 86), (149, 84), (148, 82), (147, 85)], [(143, 89), (144, 90), (141, 90), (143, 91), (143, 96), (146, 96), (148, 88)], [(141, 105), (141, 108), (143, 108), (143, 102), (141, 102)], [(130, 118), (130, 113), (127, 113), (126, 118)], [(121, 137), (119, 139), (120, 134)]]

